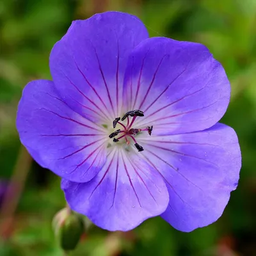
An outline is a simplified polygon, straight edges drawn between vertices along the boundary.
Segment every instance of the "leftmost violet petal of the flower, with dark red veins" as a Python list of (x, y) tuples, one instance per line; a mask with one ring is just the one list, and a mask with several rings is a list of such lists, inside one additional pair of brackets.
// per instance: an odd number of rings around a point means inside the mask
[(88, 181), (106, 161), (104, 128), (72, 111), (52, 81), (32, 81), (24, 88), (17, 129), (31, 156), (65, 179)]

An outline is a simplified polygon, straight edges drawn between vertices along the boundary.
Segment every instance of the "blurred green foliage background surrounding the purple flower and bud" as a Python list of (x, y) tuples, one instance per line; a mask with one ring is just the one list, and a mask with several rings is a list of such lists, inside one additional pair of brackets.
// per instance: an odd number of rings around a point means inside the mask
[(256, 255), (256, 0), (0, 1), (0, 179), (15, 184), (12, 200), (1, 203), (0, 195), (0, 255), (63, 255), (51, 230), (65, 206), (60, 180), (20, 146), (17, 103), (26, 83), (51, 79), (49, 53), (70, 22), (106, 10), (137, 15), (150, 36), (209, 47), (232, 84), (222, 122), (238, 134), (243, 168), (223, 216), (209, 227), (187, 234), (161, 218), (127, 233), (91, 227), (70, 255)]

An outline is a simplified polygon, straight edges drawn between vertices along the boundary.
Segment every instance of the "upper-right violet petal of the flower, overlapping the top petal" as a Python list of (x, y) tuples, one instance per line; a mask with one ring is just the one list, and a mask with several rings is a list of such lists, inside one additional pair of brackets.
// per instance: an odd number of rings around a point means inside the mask
[(140, 109), (138, 127), (157, 134), (201, 131), (216, 124), (230, 99), (225, 70), (201, 44), (149, 38), (129, 58), (124, 106)]

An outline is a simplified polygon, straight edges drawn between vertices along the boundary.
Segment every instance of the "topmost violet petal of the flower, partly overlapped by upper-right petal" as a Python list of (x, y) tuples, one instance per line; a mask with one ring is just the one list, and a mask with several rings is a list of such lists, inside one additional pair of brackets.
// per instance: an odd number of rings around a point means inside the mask
[(143, 23), (126, 13), (106, 12), (72, 22), (50, 57), (61, 97), (92, 120), (101, 116), (114, 120), (120, 115), (129, 54), (145, 38)]

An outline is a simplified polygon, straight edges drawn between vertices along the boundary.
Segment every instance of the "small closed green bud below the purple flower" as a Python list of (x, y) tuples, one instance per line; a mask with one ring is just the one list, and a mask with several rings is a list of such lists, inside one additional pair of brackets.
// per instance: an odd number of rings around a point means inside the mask
[(57, 212), (52, 221), (54, 234), (65, 251), (74, 250), (84, 232), (82, 218), (68, 208)]

